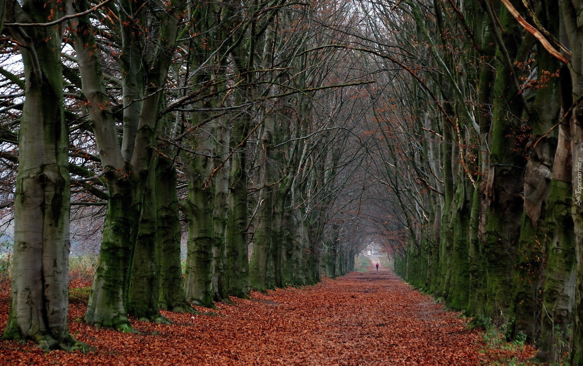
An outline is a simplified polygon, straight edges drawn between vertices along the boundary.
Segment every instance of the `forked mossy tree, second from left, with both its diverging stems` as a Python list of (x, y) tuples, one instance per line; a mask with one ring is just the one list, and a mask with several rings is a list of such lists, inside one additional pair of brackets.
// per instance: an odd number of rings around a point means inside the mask
[[(152, 147), (156, 144), (160, 90), (166, 83), (173, 58), (180, 20), (176, 14), (184, 4), (178, 1), (173, 5), (166, 12), (154, 14), (136, 12), (141, 4), (117, 3), (122, 12), (137, 14), (142, 24), (149, 23), (149, 20), (159, 20), (161, 24), (156, 37), (148, 38), (146, 42), (147, 34), (138, 30), (138, 22), (127, 22), (125, 18), (120, 21), (122, 52), (117, 61), (122, 70), (124, 103), (121, 146), (101, 72), (99, 48), (94, 38), (96, 32), (89, 16), (79, 17), (71, 23), (82, 91), (87, 98), (89, 118), (93, 123), (108, 187), (100, 258), (85, 315), (87, 324), (98, 327), (133, 331), (127, 319), (129, 279), (143, 191), (149, 175)], [(86, 1), (69, 1), (67, 6), (69, 13), (79, 13), (86, 10), (89, 4)], [(157, 18), (146, 19), (148, 16)]]

